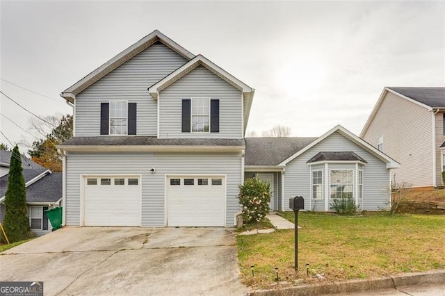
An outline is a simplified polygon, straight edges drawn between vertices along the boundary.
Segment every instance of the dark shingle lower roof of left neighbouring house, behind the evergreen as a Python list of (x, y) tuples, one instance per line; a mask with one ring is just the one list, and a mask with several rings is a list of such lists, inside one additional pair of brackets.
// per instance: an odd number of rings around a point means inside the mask
[[(45, 172), (46, 169), (25, 169), (25, 183)], [(8, 174), (0, 178), (0, 197), (8, 189)], [(62, 197), (62, 173), (46, 174), (42, 179), (26, 187), (26, 202), (57, 202)]]

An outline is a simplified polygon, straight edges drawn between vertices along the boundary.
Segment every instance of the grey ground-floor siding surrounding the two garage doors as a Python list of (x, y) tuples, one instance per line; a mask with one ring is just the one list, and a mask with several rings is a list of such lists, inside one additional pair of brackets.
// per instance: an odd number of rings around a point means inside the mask
[[(155, 167), (154, 174), (149, 172)], [(240, 211), (241, 154), (69, 153), (67, 155), (67, 225), (80, 224), (81, 174), (141, 174), (142, 226), (165, 226), (165, 174), (227, 175), (227, 227)]]

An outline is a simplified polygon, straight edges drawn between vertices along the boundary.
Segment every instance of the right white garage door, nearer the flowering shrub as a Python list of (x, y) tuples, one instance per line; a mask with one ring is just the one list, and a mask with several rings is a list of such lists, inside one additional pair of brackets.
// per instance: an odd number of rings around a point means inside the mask
[(224, 176), (168, 176), (167, 224), (170, 227), (224, 227)]

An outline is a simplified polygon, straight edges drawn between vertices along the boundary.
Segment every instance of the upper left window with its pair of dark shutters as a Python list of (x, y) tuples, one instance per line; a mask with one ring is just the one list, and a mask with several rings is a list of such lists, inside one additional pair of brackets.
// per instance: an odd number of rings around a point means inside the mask
[(101, 135), (136, 135), (136, 103), (110, 101), (100, 104)]

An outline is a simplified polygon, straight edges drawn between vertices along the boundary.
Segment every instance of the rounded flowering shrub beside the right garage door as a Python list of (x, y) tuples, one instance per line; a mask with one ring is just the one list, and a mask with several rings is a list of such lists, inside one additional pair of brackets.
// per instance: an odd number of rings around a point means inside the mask
[(245, 179), (239, 188), (239, 203), (243, 206), (243, 222), (260, 222), (269, 213), (270, 184), (257, 178)]

